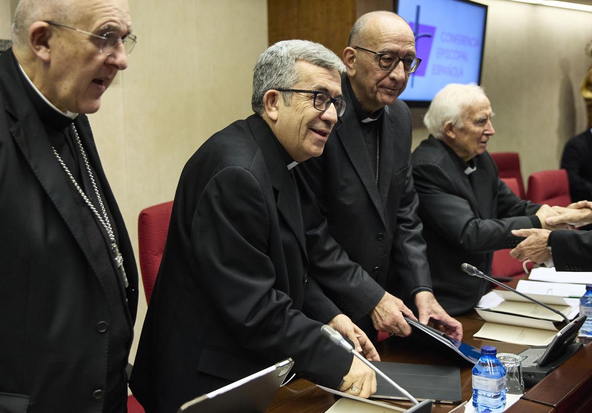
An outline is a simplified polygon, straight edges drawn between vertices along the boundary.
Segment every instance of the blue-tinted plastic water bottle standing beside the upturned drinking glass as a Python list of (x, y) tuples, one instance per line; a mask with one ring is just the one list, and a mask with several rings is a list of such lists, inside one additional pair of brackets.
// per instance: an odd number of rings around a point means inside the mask
[(502, 412), (506, 405), (506, 367), (496, 354), (496, 347), (481, 347), (481, 357), (472, 370), (473, 406), (479, 413)]

